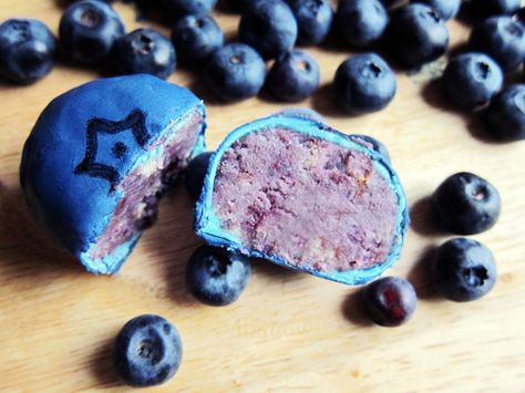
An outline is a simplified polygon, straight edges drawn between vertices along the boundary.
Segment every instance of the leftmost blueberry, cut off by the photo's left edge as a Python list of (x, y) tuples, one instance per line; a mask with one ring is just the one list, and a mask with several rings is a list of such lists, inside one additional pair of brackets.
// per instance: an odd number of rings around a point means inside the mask
[(9, 19), (0, 24), (0, 75), (32, 83), (54, 65), (56, 42), (45, 24), (34, 19)]

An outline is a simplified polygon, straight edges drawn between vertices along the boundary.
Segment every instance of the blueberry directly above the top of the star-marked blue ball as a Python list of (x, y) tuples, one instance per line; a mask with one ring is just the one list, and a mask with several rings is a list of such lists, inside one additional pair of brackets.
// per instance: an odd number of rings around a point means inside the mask
[(116, 42), (115, 62), (124, 74), (166, 79), (175, 71), (176, 55), (167, 37), (152, 29), (137, 29)]

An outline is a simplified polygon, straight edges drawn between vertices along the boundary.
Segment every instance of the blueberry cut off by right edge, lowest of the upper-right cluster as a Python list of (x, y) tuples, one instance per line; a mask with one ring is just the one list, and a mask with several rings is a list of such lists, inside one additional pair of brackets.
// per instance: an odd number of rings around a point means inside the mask
[(525, 84), (505, 87), (486, 111), (488, 133), (504, 141), (525, 139)]

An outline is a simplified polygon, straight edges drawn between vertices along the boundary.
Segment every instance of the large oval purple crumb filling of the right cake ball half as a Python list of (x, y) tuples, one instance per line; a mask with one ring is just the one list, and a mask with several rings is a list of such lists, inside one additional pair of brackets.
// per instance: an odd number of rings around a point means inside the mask
[(224, 230), (302, 268), (347, 271), (385, 260), (398, 197), (366, 154), (289, 130), (246, 135), (219, 164)]

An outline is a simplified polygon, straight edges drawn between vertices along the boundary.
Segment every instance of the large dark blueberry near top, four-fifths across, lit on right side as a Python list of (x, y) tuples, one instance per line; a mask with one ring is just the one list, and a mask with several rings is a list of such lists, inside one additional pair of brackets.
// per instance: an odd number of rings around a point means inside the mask
[(419, 3), (392, 14), (385, 38), (392, 56), (408, 68), (436, 60), (449, 46), (449, 30), (443, 19), (434, 9)]

